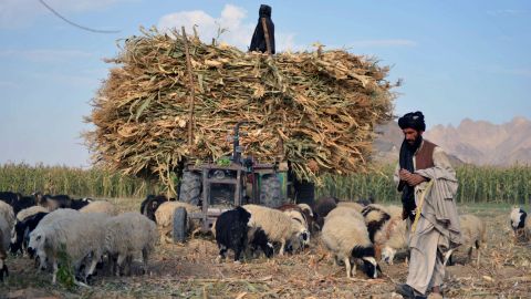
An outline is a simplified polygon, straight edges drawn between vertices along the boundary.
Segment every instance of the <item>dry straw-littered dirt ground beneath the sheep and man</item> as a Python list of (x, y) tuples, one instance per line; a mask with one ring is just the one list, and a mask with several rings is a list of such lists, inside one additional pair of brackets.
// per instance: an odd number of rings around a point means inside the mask
[[(112, 199), (123, 210), (137, 210), (139, 199)], [(447, 267), (446, 298), (531, 298), (531, 247), (514, 245), (509, 227), (509, 207), (461, 206), (487, 223), (489, 241), (481, 265), (465, 262)], [(50, 274), (38, 274), (33, 261), (10, 257), (10, 277), (0, 283), (0, 298), (400, 298), (393, 292), (404, 282), (404, 259), (381, 264), (383, 277), (367, 279), (358, 270), (347, 279), (344, 267), (334, 267), (319, 236), (302, 254), (264, 257), (235, 264), (216, 264), (217, 246), (210, 236), (186, 245), (159, 245), (147, 275), (116, 278), (100, 272), (90, 288), (67, 290), (51, 285)], [(473, 252), (473, 261), (476, 252)], [(464, 262), (465, 265), (460, 265)]]

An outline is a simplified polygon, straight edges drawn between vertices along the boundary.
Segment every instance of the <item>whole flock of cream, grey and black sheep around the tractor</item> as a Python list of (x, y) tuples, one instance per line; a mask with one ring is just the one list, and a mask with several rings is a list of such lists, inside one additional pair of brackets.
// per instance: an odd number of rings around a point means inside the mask
[[(52, 282), (61, 255), (70, 258), (76, 280), (86, 286), (98, 264), (119, 276), (131, 272), (133, 259), (147, 269), (149, 254), (156, 244), (171, 235), (175, 210), (184, 207), (188, 214), (199, 207), (164, 196), (148, 196), (140, 213), (118, 214), (106, 200), (71, 199), (65, 195), (35, 194), (22, 196), (0, 193), (0, 279), (8, 275), (7, 252), (22, 252), (38, 261), (40, 270), (51, 270)], [(516, 236), (531, 236), (531, 217), (514, 208), (510, 214)], [(460, 216), (462, 246), (459, 250), (478, 251), (486, 241), (485, 223), (473, 215)], [(187, 221), (189, 233), (198, 223)], [(361, 267), (368, 278), (376, 278), (378, 261), (393, 265), (397, 252), (407, 252), (407, 227), (402, 220), (402, 207), (371, 203), (339, 202), (321, 198), (314, 207), (287, 204), (278, 208), (243, 205), (222, 213), (211, 229), (219, 248), (218, 261), (233, 251), (235, 261), (263, 252), (295, 254), (320, 238), (334, 265), (343, 264), (346, 276)], [(451, 261), (451, 260), (450, 260)]]

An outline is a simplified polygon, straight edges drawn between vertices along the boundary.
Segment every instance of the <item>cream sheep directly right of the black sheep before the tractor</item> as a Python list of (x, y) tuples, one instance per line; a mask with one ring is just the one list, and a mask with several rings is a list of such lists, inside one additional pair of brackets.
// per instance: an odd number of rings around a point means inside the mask
[(283, 255), (288, 243), (300, 244), (310, 233), (304, 225), (292, 220), (280, 210), (257, 206), (242, 206), (251, 214), (251, 227), (261, 227), (271, 243), (280, 243), (279, 255)]

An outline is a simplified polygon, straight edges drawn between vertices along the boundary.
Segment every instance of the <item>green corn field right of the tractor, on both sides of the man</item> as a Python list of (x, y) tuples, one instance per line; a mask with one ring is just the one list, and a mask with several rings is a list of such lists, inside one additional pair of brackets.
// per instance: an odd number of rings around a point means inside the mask
[[(393, 182), (394, 165), (376, 167), (369, 174), (326, 176), (316, 192), (317, 196), (341, 199), (373, 197), (376, 202), (400, 200)], [(473, 166), (456, 168), (459, 181), (457, 202), (531, 204), (531, 166)]]

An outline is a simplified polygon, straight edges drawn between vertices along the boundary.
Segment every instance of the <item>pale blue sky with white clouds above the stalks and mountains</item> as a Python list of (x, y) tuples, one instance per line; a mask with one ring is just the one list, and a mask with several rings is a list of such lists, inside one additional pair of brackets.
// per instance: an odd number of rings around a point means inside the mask
[[(139, 28), (197, 25), (247, 50), (261, 3), (272, 7), (278, 51), (346, 49), (391, 65), (404, 84), (395, 114), (420, 110), (428, 130), (461, 120), (531, 118), (531, 1), (0, 0), (0, 164), (88, 167), (81, 133), (91, 99)], [(115, 32), (118, 31), (118, 32)]]

